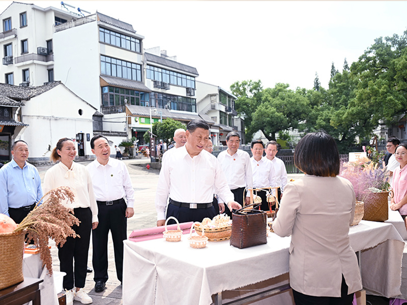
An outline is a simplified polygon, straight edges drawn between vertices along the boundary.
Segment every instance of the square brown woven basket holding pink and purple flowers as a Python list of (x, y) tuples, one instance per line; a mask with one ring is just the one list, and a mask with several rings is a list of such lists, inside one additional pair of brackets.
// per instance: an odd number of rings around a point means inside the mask
[[(393, 194), (392, 191), (390, 191)], [(389, 192), (383, 190), (382, 193), (368, 193), (364, 197), (365, 214), (363, 220), (385, 221), (389, 219), (389, 204), (387, 197)], [(393, 197), (392, 195), (390, 197)]]

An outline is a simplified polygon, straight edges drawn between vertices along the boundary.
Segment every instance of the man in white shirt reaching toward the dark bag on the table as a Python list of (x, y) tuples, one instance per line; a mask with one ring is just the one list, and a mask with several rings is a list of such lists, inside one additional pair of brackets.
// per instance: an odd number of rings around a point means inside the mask
[[(167, 156), (161, 165), (155, 200), (157, 226), (163, 226), (170, 216), (180, 223), (212, 219), (216, 215), (212, 203), (215, 193), (230, 209), (241, 207), (234, 201), (216, 157), (203, 149), (209, 139), (209, 125), (203, 120), (190, 121), (186, 138), (187, 143)], [(219, 209), (223, 212), (223, 203)]]

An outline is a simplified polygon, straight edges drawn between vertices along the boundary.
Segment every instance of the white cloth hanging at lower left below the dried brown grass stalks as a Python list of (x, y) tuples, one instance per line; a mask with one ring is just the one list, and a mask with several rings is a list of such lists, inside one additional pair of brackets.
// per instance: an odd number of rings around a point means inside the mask
[[(54, 278), (47, 274), (47, 268), (42, 268), (40, 254), (24, 254), (22, 261), (22, 273), (24, 277), (43, 279), (40, 283), (41, 304), (59, 305), (57, 292), (55, 291)], [(59, 291), (58, 291), (59, 292)], [(32, 302), (30, 302), (32, 304)]]

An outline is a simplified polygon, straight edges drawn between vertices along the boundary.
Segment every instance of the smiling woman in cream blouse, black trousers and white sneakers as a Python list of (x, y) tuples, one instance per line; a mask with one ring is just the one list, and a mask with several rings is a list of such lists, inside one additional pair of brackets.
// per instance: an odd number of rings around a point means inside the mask
[[(68, 237), (63, 247), (58, 247), (60, 269), (66, 272), (63, 287), (66, 290), (67, 305), (78, 300), (83, 304), (92, 303), (92, 298), (84, 292), (86, 266), (88, 264), (89, 243), (92, 229), (98, 226), (98, 206), (93, 193), (91, 177), (86, 167), (74, 162), (75, 144), (71, 139), (63, 138), (52, 150), (51, 161), (56, 163), (47, 170), (44, 177), (44, 193), (66, 186), (74, 193), (74, 202), (63, 202), (74, 210), (79, 226), (72, 228), (80, 238)], [(75, 261), (75, 264), (74, 264)], [(76, 289), (74, 289), (76, 287)]]

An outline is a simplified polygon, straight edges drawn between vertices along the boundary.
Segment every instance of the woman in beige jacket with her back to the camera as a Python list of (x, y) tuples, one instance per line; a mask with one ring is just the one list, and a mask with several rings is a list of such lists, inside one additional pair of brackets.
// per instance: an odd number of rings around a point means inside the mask
[(355, 192), (339, 174), (335, 140), (325, 132), (304, 136), (294, 155), (306, 175), (284, 190), (273, 224), (279, 236), (291, 236), (289, 281), (296, 305), (352, 304), (362, 281), (349, 227)]

